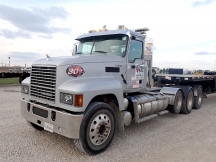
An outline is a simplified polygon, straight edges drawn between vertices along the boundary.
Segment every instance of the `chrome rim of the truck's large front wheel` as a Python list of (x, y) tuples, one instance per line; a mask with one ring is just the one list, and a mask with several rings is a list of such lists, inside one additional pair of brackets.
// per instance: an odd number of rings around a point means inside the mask
[(90, 125), (89, 138), (94, 145), (101, 145), (109, 137), (111, 121), (106, 114), (96, 116)]

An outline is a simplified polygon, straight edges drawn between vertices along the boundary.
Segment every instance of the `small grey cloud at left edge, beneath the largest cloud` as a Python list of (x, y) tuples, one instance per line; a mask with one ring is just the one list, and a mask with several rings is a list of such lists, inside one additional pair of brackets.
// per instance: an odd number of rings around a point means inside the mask
[(22, 31), (22, 30), (11, 31), (8, 29), (2, 29), (2, 30), (0, 30), (0, 35), (2, 35), (5, 38), (8, 38), (8, 39), (15, 39), (18, 37), (31, 39), (31, 34), (29, 32)]

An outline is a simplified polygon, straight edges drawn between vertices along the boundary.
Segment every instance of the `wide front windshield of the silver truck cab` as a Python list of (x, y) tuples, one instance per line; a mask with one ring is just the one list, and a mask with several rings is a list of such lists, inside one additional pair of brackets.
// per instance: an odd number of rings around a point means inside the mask
[(107, 54), (124, 57), (128, 37), (122, 34), (103, 35), (80, 40), (77, 54)]

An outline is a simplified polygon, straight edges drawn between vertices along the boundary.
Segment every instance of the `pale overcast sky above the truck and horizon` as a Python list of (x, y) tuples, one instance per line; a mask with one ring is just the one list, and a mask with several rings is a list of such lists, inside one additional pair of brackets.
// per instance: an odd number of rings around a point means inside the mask
[(153, 66), (214, 70), (216, 0), (0, 0), (0, 62), (71, 56), (91, 29), (148, 27)]

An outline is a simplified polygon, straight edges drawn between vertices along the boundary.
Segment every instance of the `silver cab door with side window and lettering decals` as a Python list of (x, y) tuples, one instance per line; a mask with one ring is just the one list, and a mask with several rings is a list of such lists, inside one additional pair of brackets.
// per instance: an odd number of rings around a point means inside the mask
[(143, 47), (142, 38), (132, 36), (127, 55), (127, 89), (130, 92), (144, 87), (144, 73), (147, 73), (147, 66), (144, 65)]

